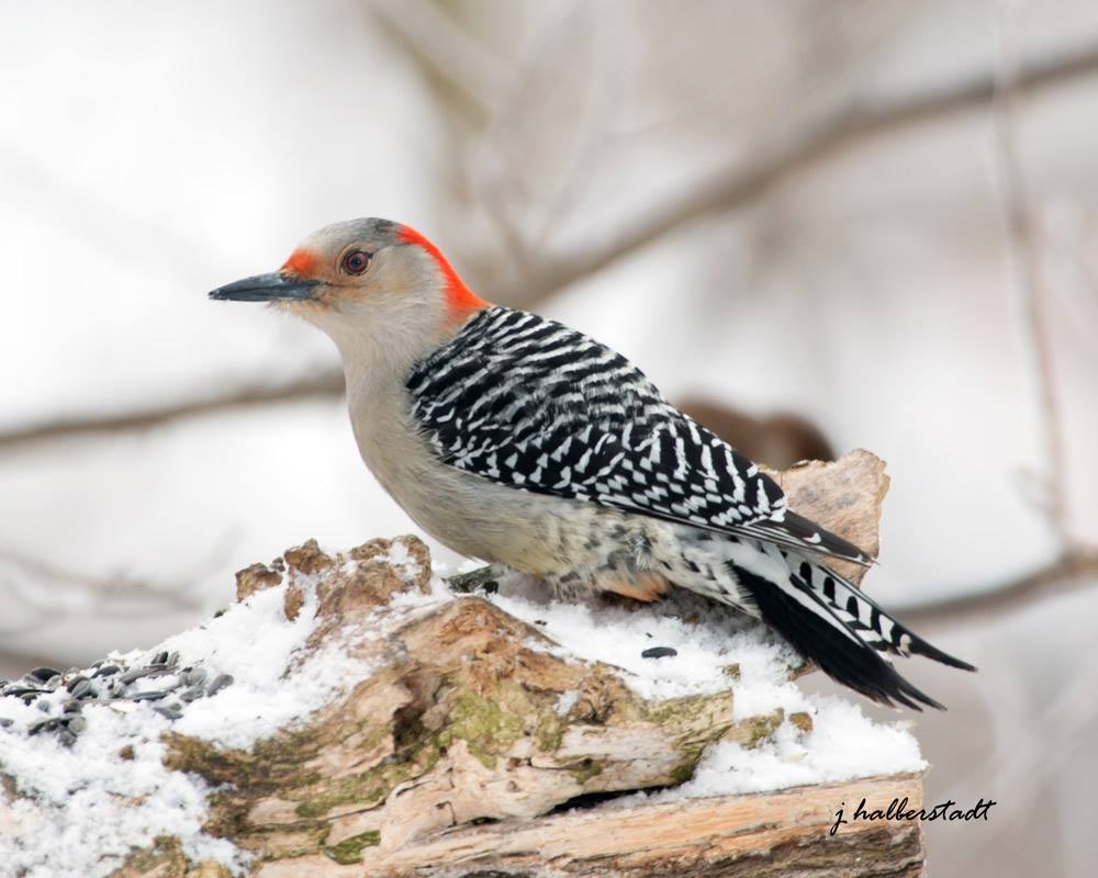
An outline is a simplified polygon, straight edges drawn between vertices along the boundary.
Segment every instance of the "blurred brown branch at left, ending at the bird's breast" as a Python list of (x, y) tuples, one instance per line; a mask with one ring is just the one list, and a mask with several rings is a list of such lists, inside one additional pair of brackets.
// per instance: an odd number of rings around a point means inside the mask
[(115, 415), (59, 418), (0, 432), (0, 452), (54, 439), (148, 430), (181, 418), (213, 415), (226, 409), (249, 408), (299, 399), (332, 398), (341, 394), (343, 390), (343, 372), (333, 369), (299, 378), (287, 384), (244, 387), (228, 393), (212, 394), (205, 398), (186, 399), (160, 408), (123, 412)]

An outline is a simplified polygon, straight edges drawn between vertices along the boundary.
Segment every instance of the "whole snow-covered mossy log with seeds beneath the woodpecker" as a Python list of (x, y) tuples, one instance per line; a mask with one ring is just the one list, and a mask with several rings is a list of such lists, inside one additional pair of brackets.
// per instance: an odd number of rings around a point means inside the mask
[[(876, 458), (781, 477), (876, 548)], [(917, 823), (829, 832), (840, 802), (919, 807), (915, 740), (800, 693), (787, 646), (701, 598), (455, 595), (414, 537), (310, 541), (237, 597), (0, 688), (13, 875), (921, 874)]]

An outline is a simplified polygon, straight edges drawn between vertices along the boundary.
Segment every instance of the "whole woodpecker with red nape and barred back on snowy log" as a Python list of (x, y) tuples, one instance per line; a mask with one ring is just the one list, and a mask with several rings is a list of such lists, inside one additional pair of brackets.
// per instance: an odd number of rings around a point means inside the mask
[(841, 684), (942, 706), (888, 656), (935, 649), (828, 566), (869, 553), (788, 507), (759, 466), (621, 354), (492, 305), (415, 229), (352, 219), (210, 293), (269, 302), (339, 350), (362, 460), (442, 544), (558, 595), (687, 588), (761, 618)]

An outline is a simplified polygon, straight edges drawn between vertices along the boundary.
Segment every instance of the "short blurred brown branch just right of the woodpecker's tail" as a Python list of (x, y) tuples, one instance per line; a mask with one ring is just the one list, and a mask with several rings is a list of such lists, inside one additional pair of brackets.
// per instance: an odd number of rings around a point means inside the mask
[[(915, 627), (962, 624), (974, 617), (1012, 612), (1053, 595), (1098, 585), (1098, 549), (1075, 548), (1029, 573), (975, 593), (896, 607), (896, 615)], [(961, 592), (960, 588), (954, 589)]]

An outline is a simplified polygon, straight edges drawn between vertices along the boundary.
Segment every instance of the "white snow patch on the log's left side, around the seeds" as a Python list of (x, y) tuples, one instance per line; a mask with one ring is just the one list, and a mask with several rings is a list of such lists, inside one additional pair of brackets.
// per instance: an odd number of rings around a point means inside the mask
[(175, 722), (145, 701), (89, 702), (85, 730), (66, 747), (51, 735), (26, 733), (59, 712), (68, 698), (64, 689), (42, 699), (45, 710), (0, 698), (0, 719), (11, 720), (7, 728), (0, 722), (0, 773), (22, 793), (0, 808), (3, 868), (25, 878), (100, 878), (133, 848), (170, 835), (192, 860), (245, 869), (246, 853), (202, 832), (212, 790), (198, 775), (164, 766), (160, 736), (172, 731), (221, 748), (248, 748), (300, 723), (368, 674), (366, 663), (349, 658), (340, 642), (305, 651), (316, 626), (315, 581), (295, 583), (305, 600), (294, 621), (282, 609), (283, 582), (152, 650), (111, 654), (110, 661), (139, 666), (157, 653), (178, 652), (180, 667), (205, 667), (210, 678), (232, 675), (231, 686), (187, 705)]

